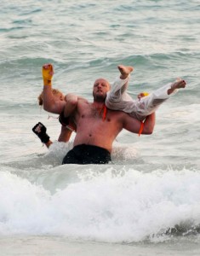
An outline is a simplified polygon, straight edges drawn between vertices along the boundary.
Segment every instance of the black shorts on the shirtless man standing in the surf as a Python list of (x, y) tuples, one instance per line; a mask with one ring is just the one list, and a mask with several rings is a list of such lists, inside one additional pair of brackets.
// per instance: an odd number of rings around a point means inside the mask
[(111, 161), (111, 153), (105, 148), (81, 144), (72, 148), (64, 157), (62, 164), (107, 164)]

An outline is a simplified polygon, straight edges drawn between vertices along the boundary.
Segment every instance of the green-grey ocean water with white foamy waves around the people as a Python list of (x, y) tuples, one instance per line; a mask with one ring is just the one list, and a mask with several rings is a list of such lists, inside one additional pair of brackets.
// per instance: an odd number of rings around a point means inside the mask
[[(0, 255), (200, 254), (200, 2), (1, 1)], [(122, 131), (105, 166), (61, 166), (54, 88), (92, 101), (94, 80), (134, 66), (129, 93), (186, 79), (151, 136)], [(48, 150), (32, 133), (41, 121)]]

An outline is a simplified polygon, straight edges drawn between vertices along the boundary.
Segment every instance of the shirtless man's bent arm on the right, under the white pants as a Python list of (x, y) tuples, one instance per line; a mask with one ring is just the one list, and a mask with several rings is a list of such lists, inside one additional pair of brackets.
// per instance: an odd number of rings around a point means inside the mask
[[(156, 120), (155, 113), (151, 113), (150, 115), (148, 115), (144, 122), (144, 128), (141, 134), (151, 134), (154, 129), (155, 120)], [(133, 117), (130, 117), (129, 114), (125, 113), (124, 121), (123, 121), (124, 129), (133, 133), (139, 133), (140, 126), (141, 126), (141, 122), (139, 120), (134, 119)]]

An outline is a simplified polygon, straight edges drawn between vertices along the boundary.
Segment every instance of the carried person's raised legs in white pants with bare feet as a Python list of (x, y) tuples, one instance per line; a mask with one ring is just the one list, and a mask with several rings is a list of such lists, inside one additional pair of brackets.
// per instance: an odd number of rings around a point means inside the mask
[(111, 90), (107, 93), (106, 107), (129, 113), (130, 116), (140, 121), (143, 121), (147, 115), (155, 112), (178, 89), (186, 87), (184, 80), (177, 79), (174, 83), (165, 84), (151, 94), (140, 93), (138, 99), (134, 100), (126, 91), (130, 73), (134, 70), (134, 67), (119, 65), (118, 70), (121, 75), (120, 78), (115, 80)]

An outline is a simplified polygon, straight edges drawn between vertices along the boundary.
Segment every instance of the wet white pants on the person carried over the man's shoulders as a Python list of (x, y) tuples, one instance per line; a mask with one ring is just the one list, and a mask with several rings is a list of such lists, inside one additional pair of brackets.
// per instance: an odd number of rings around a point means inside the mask
[(126, 92), (129, 77), (127, 79), (116, 79), (111, 90), (106, 96), (106, 107), (112, 110), (120, 110), (129, 113), (130, 116), (143, 120), (147, 115), (155, 112), (157, 108), (174, 95), (177, 90), (168, 95), (168, 90), (173, 83), (164, 85), (148, 96), (133, 100)]

